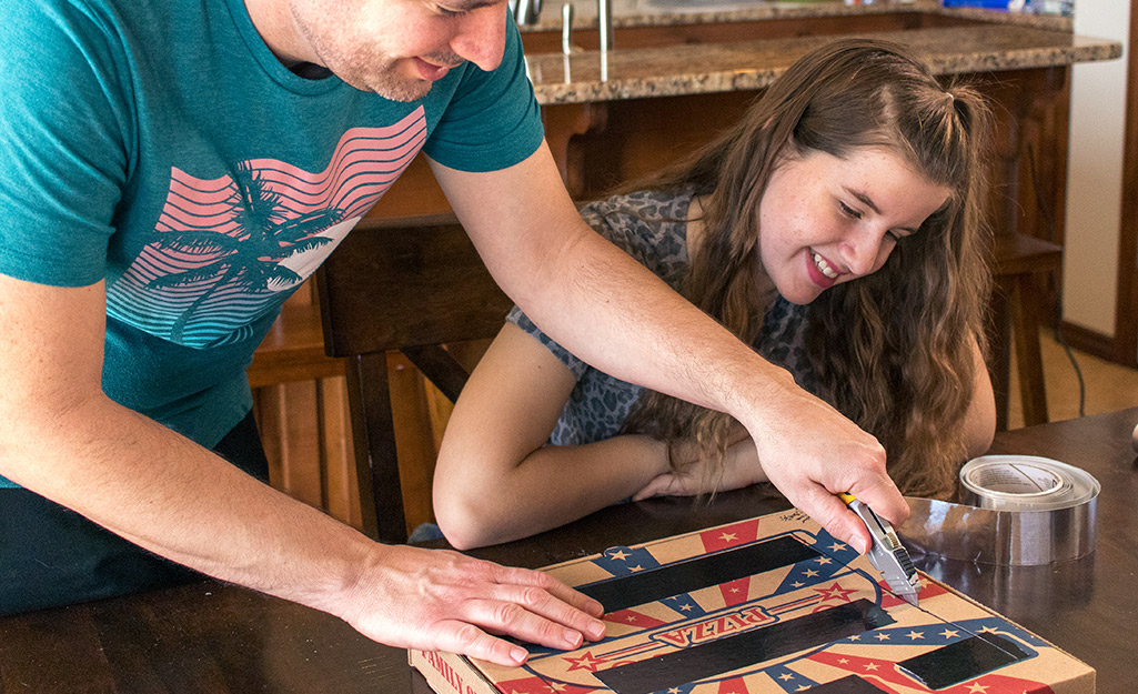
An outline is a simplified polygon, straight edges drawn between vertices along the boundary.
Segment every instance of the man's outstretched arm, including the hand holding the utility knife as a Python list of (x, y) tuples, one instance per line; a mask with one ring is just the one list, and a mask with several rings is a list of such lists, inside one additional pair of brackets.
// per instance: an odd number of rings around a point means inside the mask
[(618, 378), (729, 413), (764, 470), (835, 537), (865, 550), (865, 526), (834, 498), (851, 491), (900, 522), (908, 506), (875, 438), (594, 233), (541, 147), (489, 173), (432, 162), (487, 268), (546, 333)]

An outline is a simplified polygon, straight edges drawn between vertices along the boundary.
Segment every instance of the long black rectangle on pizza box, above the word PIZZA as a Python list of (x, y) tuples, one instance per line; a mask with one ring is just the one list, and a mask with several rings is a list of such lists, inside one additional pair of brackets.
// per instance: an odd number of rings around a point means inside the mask
[(617, 612), (819, 556), (818, 552), (792, 537), (778, 537), (577, 589), (597, 600), (605, 612)]

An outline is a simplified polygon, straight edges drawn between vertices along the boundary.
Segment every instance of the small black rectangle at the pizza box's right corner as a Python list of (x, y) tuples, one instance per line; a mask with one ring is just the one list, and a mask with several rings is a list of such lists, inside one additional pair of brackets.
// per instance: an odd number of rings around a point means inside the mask
[(1024, 660), (1028, 655), (1015, 642), (998, 634), (980, 634), (915, 655), (897, 663), (897, 667), (930, 689), (943, 689)]

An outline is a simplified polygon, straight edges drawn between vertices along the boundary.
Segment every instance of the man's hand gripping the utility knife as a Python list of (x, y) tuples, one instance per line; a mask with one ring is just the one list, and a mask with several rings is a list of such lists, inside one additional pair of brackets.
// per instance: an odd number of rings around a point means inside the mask
[(865, 523), (834, 495), (849, 491), (900, 526), (909, 506), (885, 472), (885, 449), (806, 390), (785, 388), (780, 402), (777, 416), (751, 424), (768, 479), (835, 538), (867, 552)]

